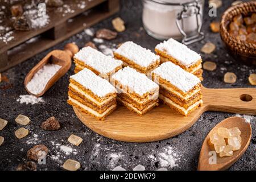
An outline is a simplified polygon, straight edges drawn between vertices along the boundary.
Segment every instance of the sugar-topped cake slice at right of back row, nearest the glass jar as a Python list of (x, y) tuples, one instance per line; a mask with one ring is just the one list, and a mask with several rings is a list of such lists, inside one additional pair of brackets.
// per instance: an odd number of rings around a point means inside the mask
[(171, 61), (172, 63), (179, 65), (185, 71), (199, 77), (200, 80), (203, 80), (201, 56), (184, 44), (181, 44), (171, 38), (158, 44), (155, 47), (155, 52), (160, 56), (162, 63)]

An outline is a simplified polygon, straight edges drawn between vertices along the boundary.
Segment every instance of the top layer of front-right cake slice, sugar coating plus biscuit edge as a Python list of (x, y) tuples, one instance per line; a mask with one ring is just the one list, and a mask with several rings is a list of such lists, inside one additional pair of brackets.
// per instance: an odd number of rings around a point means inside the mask
[(159, 84), (168, 84), (183, 96), (200, 88), (201, 82), (195, 75), (184, 71), (171, 62), (163, 63), (152, 71), (152, 79)]

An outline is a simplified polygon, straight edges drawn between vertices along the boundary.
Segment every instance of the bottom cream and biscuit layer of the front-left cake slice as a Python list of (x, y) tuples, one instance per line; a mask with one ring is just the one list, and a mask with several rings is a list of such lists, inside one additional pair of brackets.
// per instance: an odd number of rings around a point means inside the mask
[(80, 109), (82, 111), (82, 113), (90, 114), (94, 118), (96, 118), (100, 121), (103, 121), (106, 118), (106, 116), (111, 114), (115, 110), (115, 108), (117, 107), (117, 105), (112, 105), (104, 113), (100, 114), (97, 111), (91, 109), (90, 107), (87, 107), (87, 106), (81, 104), (79, 101), (76, 101), (71, 97), (68, 98), (68, 104), (77, 107), (78, 109)]

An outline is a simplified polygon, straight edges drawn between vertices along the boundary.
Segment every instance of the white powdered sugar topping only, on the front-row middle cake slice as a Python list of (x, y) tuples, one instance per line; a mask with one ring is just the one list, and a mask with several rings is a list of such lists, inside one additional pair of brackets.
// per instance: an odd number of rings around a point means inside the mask
[(143, 94), (151, 92), (152, 90), (155, 91), (159, 89), (159, 86), (148, 79), (146, 75), (139, 73), (130, 67), (125, 67), (119, 70), (112, 76), (112, 79), (118, 81), (123, 86), (128, 86), (129, 91), (135, 92), (140, 96), (143, 96)]

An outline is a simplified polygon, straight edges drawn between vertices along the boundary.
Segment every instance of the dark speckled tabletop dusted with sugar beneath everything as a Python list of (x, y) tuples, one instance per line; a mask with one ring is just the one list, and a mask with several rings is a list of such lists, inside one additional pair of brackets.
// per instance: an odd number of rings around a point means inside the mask
[[(212, 20), (220, 19), (221, 13), (231, 5), (233, 1), (225, 0), (224, 5), (218, 9), (217, 18), (207, 16), (208, 3), (205, 7), (204, 27), (205, 40), (200, 43), (195, 43), (189, 46), (193, 50), (200, 52), (200, 48), (205, 42), (213, 42), (217, 45), (217, 49), (210, 55), (204, 55), (203, 60), (215, 61), (217, 69), (213, 72), (204, 72), (203, 85), (209, 88), (241, 88), (252, 87), (247, 81), (250, 73), (255, 73), (256, 69), (247, 67), (233, 60), (228, 55), (225, 48), (222, 46), (220, 36), (213, 34), (209, 30), (209, 23)], [(140, 1), (121, 1), (121, 11), (118, 15), (126, 22), (126, 31), (119, 33), (117, 39), (104, 44), (118, 44), (127, 40), (132, 40), (141, 46), (150, 48), (152, 51), (158, 40), (148, 36), (142, 28), (141, 22), (142, 6)], [(112, 17), (113, 18), (113, 17)], [(93, 27), (93, 30), (98, 28), (112, 28), (111, 19), (104, 20)], [(90, 40), (90, 36), (81, 32), (67, 41), (53, 47), (52, 49), (62, 49), (65, 43), (76, 42), (81, 48), (84, 43)], [(98, 46), (98, 44), (97, 44)], [(68, 91), (68, 78), (73, 74), (74, 65), (71, 70), (62, 77), (51, 89), (44, 94), (44, 103), (35, 105), (19, 104), (16, 99), (21, 94), (27, 94), (24, 89), (23, 81), (26, 74), (40, 59), (42, 59), (49, 49), (39, 55), (27, 60), (26, 62), (17, 65), (9, 71), (3, 72), (4, 76), (9, 78), (9, 83), (1, 82), (0, 90), (0, 118), (9, 121), (8, 125), (0, 131), (0, 135), (5, 137), (5, 142), (0, 147), (0, 170), (14, 170), (19, 163), (27, 161), (27, 150), (35, 144), (44, 144), (49, 148), (46, 165), (38, 165), (39, 170), (59, 170), (62, 169), (62, 164), (66, 159), (75, 159), (81, 163), (81, 169), (85, 170), (106, 170), (113, 169), (115, 166), (122, 166), (127, 170), (133, 169), (138, 164), (142, 164), (148, 170), (156, 170), (161, 167), (160, 153), (166, 148), (172, 147), (172, 150), (179, 155), (180, 160), (176, 161), (176, 167), (166, 167), (169, 170), (196, 170), (197, 161), (201, 144), (209, 131), (220, 121), (231, 117), (234, 114), (207, 112), (204, 113), (199, 121), (174, 138), (154, 142), (154, 143), (125, 143), (118, 142), (97, 135), (89, 130), (86, 126), (77, 119), (72, 107), (66, 102)], [(225, 72), (236, 73), (238, 79), (236, 84), (225, 84), (222, 79)], [(5, 85), (11, 84), (11, 88), (3, 89)], [(220, 93), (221, 94), (221, 93)], [(15, 122), (18, 114), (24, 114), (30, 117), (31, 123), (26, 126), (30, 130), (30, 134), (23, 139), (16, 139), (14, 131), (20, 126)], [(40, 125), (47, 118), (55, 116), (61, 123), (61, 129), (58, 131), (44, 131), (40, 129)], [(253, 138), (250, 146), (242, 156), (230, 169), (231, 170), (255, 170), (256, 162), (256, 125), (255, 117), (251, 121), (253, 127)], [(38, 140), (35, 140), (34, 135), (38, 135)], [(71, 134), (76, 134), (83, 139), (80, 146), (72, 146), (67, 138)], [(53, 144), (55, 143), (55, 144)], [(60, 151), (56, 144), (72, 147), (73, 153), (66, 155)], [(57, 155), (59, 158), (57, 159)], [(118, 154), (118, 158), (114, 158)], [(154, 159), (152, 159), (154, 158)]]

